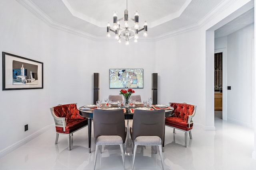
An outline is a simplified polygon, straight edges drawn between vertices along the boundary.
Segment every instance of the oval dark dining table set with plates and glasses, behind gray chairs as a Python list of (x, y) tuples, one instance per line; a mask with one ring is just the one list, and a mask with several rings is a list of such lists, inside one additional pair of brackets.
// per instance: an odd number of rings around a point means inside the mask
[[(112, 104), (111, 107), (108, 104), (101, 104), (99, 109), (117, 109), (118, 106)], [(171, 117), (173, 115), (174, 108), (167, 105), (156, 104), (152, 106), (144, 107), (143, 104), (135, 104), (135, 107), (129, 105), (129, 107), (124, 107), (123, 105), (120, 107), (124, 110), (124, 119), (129, 120), (133, 119), (133, 114), (135, 109), (146, 109), (146, 110), (155, 110), (155, 109), (164, 109), (165, 110), (165, 117)], [(79, 115), (82, 117), (87, 118), (88, 121), (88, 151), (91, 152), (91, 136), (92, 136), (92, 119), (93, 119), (93, 110), (98, 109), (96, 105), (84, 105), (78, 108)], [(128, 128), (127, 121), (127, 128)], [(163, 152), (164, 152), (164, 141), (163, 141)]]

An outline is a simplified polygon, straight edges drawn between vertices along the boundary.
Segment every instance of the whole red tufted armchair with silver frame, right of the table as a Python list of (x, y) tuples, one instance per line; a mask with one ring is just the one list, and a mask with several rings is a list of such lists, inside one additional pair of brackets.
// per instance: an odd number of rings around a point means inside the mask
[(187, 147), (188, 132), (190, 139), (192, 139), (191, 130), (193, 128), (192, 117), (196, 113), (196, 106), (190, 104), (181, 103), (170, 103), (170, 106), (174, 108), (173, 117), (166, 117), (165, 125), (175, 129), (179, 129), (185, 132), (185, 147)]

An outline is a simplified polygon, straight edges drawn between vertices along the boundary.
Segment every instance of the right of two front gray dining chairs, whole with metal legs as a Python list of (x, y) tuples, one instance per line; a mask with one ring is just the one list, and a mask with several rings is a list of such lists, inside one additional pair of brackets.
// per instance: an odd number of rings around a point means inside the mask
[(164, 170), (162, 144), (164, 140), (165, 111), (136, 109), (133, 115), (130, 134), (134, 143), (132, 169), (134, 168), (136, 149), (138, 145), (158, 146), (162, 169)]

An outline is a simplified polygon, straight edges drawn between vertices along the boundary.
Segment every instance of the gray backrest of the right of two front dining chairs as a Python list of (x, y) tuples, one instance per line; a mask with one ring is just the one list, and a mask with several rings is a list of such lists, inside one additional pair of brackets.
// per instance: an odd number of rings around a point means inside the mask
[(132, 141), (138, 136), (158, 136), (164, 140), (165, 111), (136, 109), (132, 123)]

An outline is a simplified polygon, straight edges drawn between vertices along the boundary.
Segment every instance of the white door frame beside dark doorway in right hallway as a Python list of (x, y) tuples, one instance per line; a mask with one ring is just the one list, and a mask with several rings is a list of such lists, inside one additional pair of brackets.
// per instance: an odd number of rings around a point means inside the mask
[(228, 88), (227, 88), (227, 79), (228, 79), (228, 57), (226, 53), (226, 48), (216, 49), (215, 53), (222, 53), (222, 120), (227, 120), (228, 115)]

